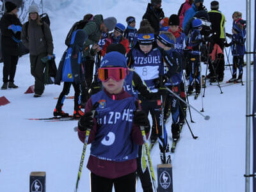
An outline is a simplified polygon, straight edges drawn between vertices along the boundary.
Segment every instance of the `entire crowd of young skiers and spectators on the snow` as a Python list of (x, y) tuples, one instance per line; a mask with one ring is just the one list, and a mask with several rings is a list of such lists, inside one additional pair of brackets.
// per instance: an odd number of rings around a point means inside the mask
[[(202, 89), (202, 62), (209, 65), (207, 77), (211, 83), (223, 81), (224, 49), (231, 46), (234, 60), (228, 83), (242, 81), (246, 33), (242, 15), (234, 12), (232, 35), (226, 34), (225, 16), (219, 11), (218, 1), (211, 2), (210, 12), (203, 3), (204, 0), (186, 0), (178, 15), (164, 17), (161, 0), (151, 0), (138, 30), (136, 18), (132, 16), (127, 17), (125, 28), (115, 17), (103, 19), (102, 15), (87, 14), (68, 32), (67, 50), (55, 78), (56, 84), (64, 82), (63, 91), (53, 115), (70, 116), (62, 106), (72, 85), (75, 90), (72, 116), (79, 119), (79, 139), (84, 142), (88, 136), (88, 143), (92, 143), (87, 164), (91, 171), (91, 191), (112, 191), (113, 184), (115, 191), (135, 191), (136, 176), (140, 177), (143, 191), (154, 190), (152, 170), (145, 160), (143, 131), (150, 137), (150, 148), (158, 141), (161, 163), (170, 163), (172, 147), (168, 144), (169, 127), (165, 124), (172, 115), (170, 132), (176, 145), (186, 120), (184, 102), (194, 88), (195, 99)], [(23, 26), (21, 30), (16, 20), (15, 27), (6, 26), (5, 17), (0, 23), (5, 38), (22, 32), (22, 41), (30, 51), (31, 74), (35, 76), (34, 97), (40, 97), (44, 91), (41, 77), (44, 67), (38, 63), (44, 56), (49, 60), (54, 57), (52, 38), (49, 26), (40, 22), (38, 10), (35, 7), (30, 10), (28, 28)], [(41, 31), (32, 33), (33, 30)], [(229, 44), (226, 36), (231, 38)], [(33, 38), (45, 41), (42, 51), (38, 50), (40, 46), (31, 47)], [(34, 50), (38, 51), (34, 53)], [(7, 88), (8, 60), (4, 55), (2, 89)], [(12, 72), (9, 88), (15, 88), (13, 77)]]

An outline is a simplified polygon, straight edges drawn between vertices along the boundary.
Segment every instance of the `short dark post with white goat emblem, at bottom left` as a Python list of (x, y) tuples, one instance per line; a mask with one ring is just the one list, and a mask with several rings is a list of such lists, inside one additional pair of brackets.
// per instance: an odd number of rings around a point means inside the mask
[(29, 191), (45, 192), (45, 177), (46, 177), (46, 172), (31, 172)]

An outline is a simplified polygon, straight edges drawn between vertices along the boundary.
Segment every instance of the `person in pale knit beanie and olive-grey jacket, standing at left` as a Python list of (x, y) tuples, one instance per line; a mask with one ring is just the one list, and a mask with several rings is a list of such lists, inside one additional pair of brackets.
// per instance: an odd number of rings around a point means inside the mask
[(21, 39), (29, 49), (31, 75), (35, 77), (35, 95), (41, 97), (44, 92), (44, 68), (41, 59), (53, 58), (52, 34), (49, 26), (42, 22), (35, 5), (29, 6), (28, 23), (22, 26)]

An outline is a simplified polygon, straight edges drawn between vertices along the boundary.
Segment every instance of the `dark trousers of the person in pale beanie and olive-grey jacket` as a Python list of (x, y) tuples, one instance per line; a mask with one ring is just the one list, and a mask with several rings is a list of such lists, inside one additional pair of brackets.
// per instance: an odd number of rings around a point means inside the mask
[(47, 56), (47, 53), (39, 54), (38, 56), (30, 55), (31, 72), (33, 70), (33, 76), (35, 77), (35, 93), (42, 95), (44, 92), (44, 68), (45, 65), (41, 59)]

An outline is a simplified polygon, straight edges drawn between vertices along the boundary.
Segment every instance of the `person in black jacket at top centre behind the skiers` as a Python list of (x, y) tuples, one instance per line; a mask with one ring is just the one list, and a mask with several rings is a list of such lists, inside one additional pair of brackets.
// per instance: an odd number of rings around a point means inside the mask
[(161, 9), (161, 0), (151, 0), (151, 3), (148, 3), (147, 11), (143, 15), (142, 19), (147, 19), (150, 23), (150, 26), (154, 29), (154, 35), (159, 33), (159, 22), (164, 18), (164, 12)]

